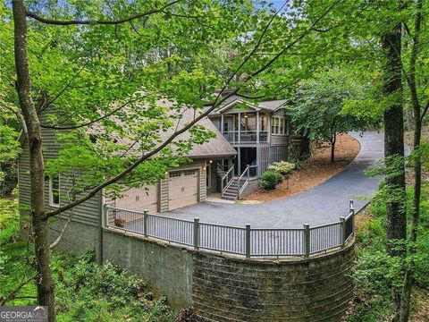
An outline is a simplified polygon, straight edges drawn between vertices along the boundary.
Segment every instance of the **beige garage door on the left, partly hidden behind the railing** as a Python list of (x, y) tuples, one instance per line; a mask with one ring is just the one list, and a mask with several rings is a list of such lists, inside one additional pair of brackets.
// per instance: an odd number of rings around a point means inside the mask
[(115, 206), (130, 210), (143, 211), (149, 210), (149, 213), (158, 212), (158, 186), (147, 186), (145, 188), (131, 188), (123, 192), (121, 199), (115, 200)]

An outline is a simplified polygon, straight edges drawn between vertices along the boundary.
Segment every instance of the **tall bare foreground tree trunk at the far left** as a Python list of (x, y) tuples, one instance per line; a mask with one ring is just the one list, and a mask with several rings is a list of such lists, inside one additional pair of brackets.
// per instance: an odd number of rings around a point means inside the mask
[(16, 87), (21, 111), (25, 119), (29, 140), (30, 217), (36, 254), (36, 283), (38, 304), (48, 306), (49, 321), (55, 321), (54, 280), (50, 267), (51, 258), (47, 240), (45, 218), (45, 165), (42, 154), (42, 133), (38, 113), (31, 98), (31, 83), (27, 58), (26, 9), (22, 1), (13, 4), (14, 55), (17, 75)]

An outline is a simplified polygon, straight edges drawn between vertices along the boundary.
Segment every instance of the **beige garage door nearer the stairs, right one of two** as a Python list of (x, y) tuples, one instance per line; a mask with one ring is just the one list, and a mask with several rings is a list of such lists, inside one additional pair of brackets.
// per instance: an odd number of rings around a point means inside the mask
[(198, 170), (172, 171), (168, 180), (168, 208), (181, 208), (198, 202)]

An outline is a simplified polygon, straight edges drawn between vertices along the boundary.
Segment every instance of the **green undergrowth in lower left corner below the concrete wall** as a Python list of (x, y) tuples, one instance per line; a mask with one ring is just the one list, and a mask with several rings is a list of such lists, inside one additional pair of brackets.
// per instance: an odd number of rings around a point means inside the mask
[[(25, 276), (34, 275), (30, 263), (33, 246), (19, 238), (16, 200), (0, 199), (0, 298), (7, 296)], [(173, 321), (177, 312), (156, 298), (143, 280), (114, 265), (98, 265), (88, 252), (52, 256), (58, 321)], [(36, 304), (36, 285), (26, 284), (7, 305)]]

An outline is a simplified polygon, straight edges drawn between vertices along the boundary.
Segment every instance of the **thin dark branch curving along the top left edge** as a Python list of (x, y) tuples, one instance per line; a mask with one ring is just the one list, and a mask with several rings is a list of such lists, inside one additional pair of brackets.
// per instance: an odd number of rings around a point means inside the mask
[(174, 0), (171, 3), (163, 5), (161, 8), (152, 9), (149, 10), (146, 13), (136, 13), (129, 17), (125, 17), (118, 20), (71, 20), (71, 21), (57, 21), (49, 18), (42, 17), (38, 15), (37, 13), (33, 13), (27, 10), (27, 16), (31, 17), (33, 19), (36, 19), (37, 21), (47, 23), (47, 24), (53, 24), (58, 26), (70, 26), (70, 25), (88, 25), (88, 24), (104, 24), (104, 25), (117, 25), (123, 22), (133, 21), (138, 18), (146, 17), (148, 15), (154, 14), (154, 13), (162, 13), (166, 8), (172, 6), (173, 4), (177, 4), (181, 2), (182, 0)]

